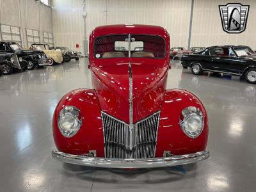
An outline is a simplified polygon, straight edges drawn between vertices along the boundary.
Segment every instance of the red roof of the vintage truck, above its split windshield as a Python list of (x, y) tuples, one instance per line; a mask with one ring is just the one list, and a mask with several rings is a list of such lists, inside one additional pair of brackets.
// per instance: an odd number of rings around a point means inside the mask
[(93, 36), (118, 35), (118, 34), (147, 34), (166, 36), (168, 32), (160, 26), (141, 25), (141, 24), (116, 24), (99, 26), (92, 31)]

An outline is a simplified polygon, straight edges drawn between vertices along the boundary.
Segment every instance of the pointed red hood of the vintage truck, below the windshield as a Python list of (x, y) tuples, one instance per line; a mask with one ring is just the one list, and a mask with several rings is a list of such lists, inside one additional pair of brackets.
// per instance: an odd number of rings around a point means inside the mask
[(129, 123), (129, 62), (132, 69), (133, 121), (152, 115), (161, 109), (166, 88), (168, 63), (156, 59), (105, 59), (92, 64), (93, 86), (100, 108), (119, 120)]

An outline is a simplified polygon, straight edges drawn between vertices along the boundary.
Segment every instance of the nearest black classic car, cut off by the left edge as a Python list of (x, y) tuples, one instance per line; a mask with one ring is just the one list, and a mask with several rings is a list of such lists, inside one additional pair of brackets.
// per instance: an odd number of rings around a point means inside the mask
[(0, 74), (12, 74), (14, 70), (24, 71), (28, 68), (28, 62), (18, 57), (17, 54), (0, 52)]

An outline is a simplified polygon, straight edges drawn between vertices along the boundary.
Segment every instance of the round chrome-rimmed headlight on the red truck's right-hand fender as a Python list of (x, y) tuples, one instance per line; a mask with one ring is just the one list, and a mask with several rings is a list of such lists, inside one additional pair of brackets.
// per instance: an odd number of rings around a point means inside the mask
[(180, 127), (189, 138), (196, 138), (204, 128), (204, 116), (200, 109), (188, 107), (180, 115)]

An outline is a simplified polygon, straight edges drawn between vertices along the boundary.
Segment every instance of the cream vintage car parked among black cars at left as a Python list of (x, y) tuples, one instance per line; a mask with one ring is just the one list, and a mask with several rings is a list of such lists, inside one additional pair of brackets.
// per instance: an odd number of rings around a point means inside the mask
[(61, 51), (50, 50), (48, 44), (32, 44), (29, 49), (44, 51), (47, 56), (47, 62), (49, 63), (49, 65), (63, 62), (63, 56), (61, 54)]

